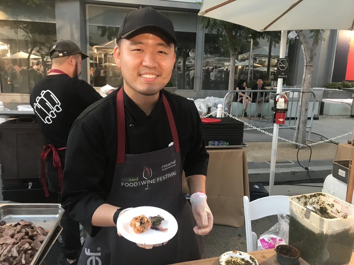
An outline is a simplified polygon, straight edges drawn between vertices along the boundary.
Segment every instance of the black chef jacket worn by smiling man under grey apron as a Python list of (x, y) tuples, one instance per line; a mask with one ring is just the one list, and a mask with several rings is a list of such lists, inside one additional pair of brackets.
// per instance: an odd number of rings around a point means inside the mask
[[(117, 92), (95, 102), (81, 113), (73, 124), (67, 143), (63, 208), (84, 226), (90, 236), (95, 236), (99, 231), (98, 227), (91, 225), (92, 215), (105, 203), (113, 181), (117, 154)], [(125, 152), (153, 152), (168, 147), (172, 142), (161, 93), (166, 96), (175, 118), (185, 175), (206, 176), (209, 154), (202, 139), (198, 110), (193, 101), (165, 90), (161, 90), (160, 99), (149, 116), (123, 92)]]

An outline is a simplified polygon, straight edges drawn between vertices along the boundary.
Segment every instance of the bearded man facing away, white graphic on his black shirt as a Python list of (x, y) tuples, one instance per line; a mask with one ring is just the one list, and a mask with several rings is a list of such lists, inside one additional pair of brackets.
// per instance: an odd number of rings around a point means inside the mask
[[(35, 84), (30, 94), (30, 104), (44, 136), (45, 148), (41, 153), (41, 159), (45, 195), (49, 196), (45, 179), (47, 175), (49, 190), (57, 196), (62, 188), (65, 147), (70, 128), (80, 113), (93, 102), (102, 99), (102, 96), (87, 82), (78, 78), (81, 61), (88, 56), (82, 53), (74, 42), (58, 41), (53, 45), (50, 57), (52, 69)], [(59, 262), (63, 265), (75, 264), (81, 247), (79, 223), (65, 212), (61, 225), (64, 257)]]

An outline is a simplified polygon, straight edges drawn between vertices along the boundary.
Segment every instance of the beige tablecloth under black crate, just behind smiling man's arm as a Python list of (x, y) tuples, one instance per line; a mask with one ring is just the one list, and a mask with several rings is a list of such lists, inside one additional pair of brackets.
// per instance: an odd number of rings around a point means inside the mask
[[(210, 158), (206, 195), (214, 224), (243, 226), (243, 196), (250, 196), (245, 149), (208, 148), (207, 151)], [(183, 192), (189, 193), (184, 176), (182, 180)]]

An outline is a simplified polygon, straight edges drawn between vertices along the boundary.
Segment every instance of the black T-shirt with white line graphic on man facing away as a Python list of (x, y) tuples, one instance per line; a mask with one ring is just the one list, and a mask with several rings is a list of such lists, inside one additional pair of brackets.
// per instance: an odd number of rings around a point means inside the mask
[(30, 104), (35, 111), (44, 144), (65, 147), (75, 119), (102, 96), (84, 80), (67, 75), (48, 75), (38, 81)]

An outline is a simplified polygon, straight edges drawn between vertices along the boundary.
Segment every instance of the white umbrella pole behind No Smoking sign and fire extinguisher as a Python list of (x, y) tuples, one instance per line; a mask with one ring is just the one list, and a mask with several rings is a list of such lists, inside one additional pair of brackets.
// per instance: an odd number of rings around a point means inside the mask
[[(280, 53), (279, 58), (285, 57), (286, 50), (286, 37), (287, 30), (281, 31), (281, 39), (280, 39)], [(282, 90), (283, 79), (278, 78), (278, 86), (276, 88), (276, 93), (280, 94)], [(276, 98), (274, 98), (276, 100)], [(272, 141), (272, 156), (270, 158), (270, 174), (269, 174), (269, 196), (273, 195), (273, 187), (274, 187), (274, 175), (275, 175), (275, 162), (276, 162), (276, 149), (278, 147), (278, 130), (279, 124), (274, 123), (273, 127), (273, 141)]]

